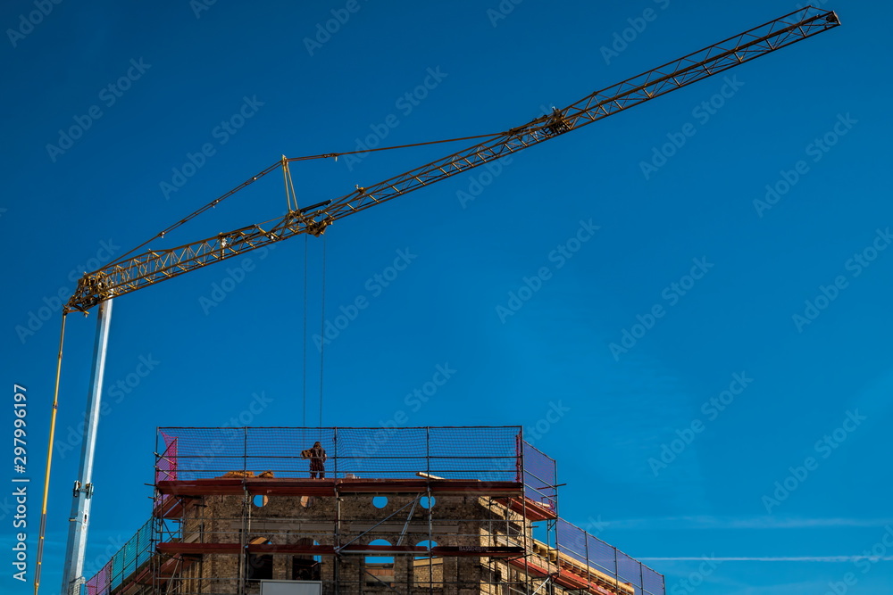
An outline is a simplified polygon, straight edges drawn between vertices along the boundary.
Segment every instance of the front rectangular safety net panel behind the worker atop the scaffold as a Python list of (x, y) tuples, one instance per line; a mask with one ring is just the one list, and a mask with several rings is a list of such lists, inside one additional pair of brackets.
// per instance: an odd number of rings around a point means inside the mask
[[(474, 427), (163, 427), (156, 481), (227, 474), (307, 477), (319, 442), (327, 477), (522, 482), (522, 429)], [(304, 454), (302, 454), (304, 453)], [(247, 476), (252, 476), (247, 475)]]

